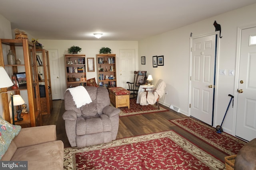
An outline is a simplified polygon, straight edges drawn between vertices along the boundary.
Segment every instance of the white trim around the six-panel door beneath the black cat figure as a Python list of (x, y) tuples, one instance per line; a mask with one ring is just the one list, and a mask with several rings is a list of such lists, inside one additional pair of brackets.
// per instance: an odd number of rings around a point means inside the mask
[[(218, 74), (217, 74), (217, 70), (218, 68), (218, 56), (219, 56), (219, 37), (220, 37), (220, 31), (216, 31), (216, 32), (212, 32), (212, 33), (208, 33), (208, 34), (203, 34), (203, 35), (198, 35), (198, 36), (192, 36), (190, 37), (190, 58), (189, 58), (189, 78), (192, 76), (192, 40), (196, 39), (196, 38), (200, 38), (200, 37), (206, 37), (209, 35), (217, 35), (217, 41), (216, 41), (216, 62), (215, 62), (215, 69), (216, 69), (216, 74), (215, 74), (215, 93), (214, 93), (214, 98), (216, 99), (218, 97)], [(189, 80), (189, 90), (188, 90), (188, 104), (191, 104), (191, 81)], [(216, 108), (217, 102), (214, 102), (214, 108)], [(216, 109), (214, 109), (214, 113), (213, 113), (213, 125), (215, 125), (216, 122)], [(190, 107), (188, 106), (188, 116), (190, 116)]]

